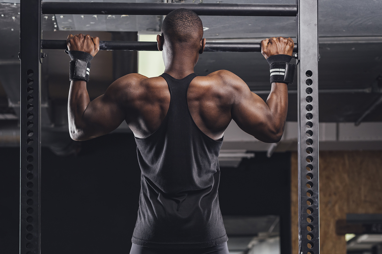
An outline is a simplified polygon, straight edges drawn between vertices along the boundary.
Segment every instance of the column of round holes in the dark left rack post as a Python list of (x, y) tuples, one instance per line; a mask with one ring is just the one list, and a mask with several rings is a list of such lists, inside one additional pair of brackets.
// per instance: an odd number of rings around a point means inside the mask
[[(26, 105), (26, 109), (28, 110), (27, 113), (26, 113), (26, 118), (28, 119), (27, 122), (26, 122), (26, 126), (28, 127), (27, 131), (26, 131), (26, 136), (27, 136), (27, 140), (26, 140), (26, 143), (29, 145), (27, 148), (26, 148), (26, 152), (29, 154), (27, 155), (26, 157), (26, 160), (28, 161), (28, 165), (26, 166), (26, 169), (28, 170), (28, 173), (26, 174), (26, 178), (29, 180), (29, 182), (26, 183), (26, 187), (28, 187), (29, 190), (27, 190), (26, 192), (26, 195), (28, 196), (28, 200), (26, 201), (26, 204), (28, 205), (28, 208), (26, 209), (26, 212), (27, 214), (29, 215), (27, 218), (26, 218), (26, 222), (28, 222), (28, 225), (26, 226), (26, 231), (28, 232), (26, 234), (26, 239), (28, 241), (31, 241), (33, 239), (33, 235), (30, 233), (32, 230), (33, 230), (33, 226), (31, 225), (32, 221), (33, 221), (33, 217), (32, 217), (32, 214), (33, 214), (33, 208), (31, 207), (31, 205), (33, 204), (33, 191), (31, 190), (31, 188), (33, 187), (33, 182), (31, 181), (33, 179), (33, 173), (32, 173), (32, 170), (34, 168), (32, 162), (34, 160), (34, 157), (33, 157), (33, 152), (34, 152), (34, 149), (33, 147), (31, 147), (31, 145), (33, 144), (33, 134), (34, 134), (34, 131), (32, 129), (34, 123), (33, 123), (33, 113), (31, 112), (32, 109), (34, 108), (34, 105), (32, 104), (33, 100), (34, 100), (34, 97), (33, 97), (33, 92), (34, 92), (34, 88), (32, 87), (33, 85), (33, 78), (31, 76), (33, 76), (34, 72), (33, 70), (29, 69), (26, 74), (29, 76), (29, 78), (27, 78), (26, 80), (26, 83), (29, 85), (27, 88), (26, 88), (26, 91), (29, 93), (28, 96), (26, 97), (26, 101), (29, 102), (27, 105)], [(31, 242), (28, 242), (26, 243), (26, 246), (25, 246), (27, 249), (31, 249), (33, 248), (33, 244)], [(26, 254), (31, 254), (32, 252), (31, 251), (28, 251), (26, 252)]]

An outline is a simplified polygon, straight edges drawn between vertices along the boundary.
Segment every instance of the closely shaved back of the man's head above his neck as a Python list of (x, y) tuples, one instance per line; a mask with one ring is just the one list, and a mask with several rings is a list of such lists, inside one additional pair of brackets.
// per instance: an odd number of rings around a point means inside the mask
[(163, 20), (162, 33), (165, 41), (171, 43), (199, 45), (203, 38), (203, 24), (196, 13), (180, 8), (170, 12)]

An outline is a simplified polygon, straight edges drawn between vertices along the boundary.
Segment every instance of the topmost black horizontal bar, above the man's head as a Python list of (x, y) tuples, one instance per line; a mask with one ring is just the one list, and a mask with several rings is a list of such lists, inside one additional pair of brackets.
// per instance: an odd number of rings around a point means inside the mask
[(167, 15), (186, 8), (201, 16), (293, 16), (296, 4), (42, 2), (42, 14)]

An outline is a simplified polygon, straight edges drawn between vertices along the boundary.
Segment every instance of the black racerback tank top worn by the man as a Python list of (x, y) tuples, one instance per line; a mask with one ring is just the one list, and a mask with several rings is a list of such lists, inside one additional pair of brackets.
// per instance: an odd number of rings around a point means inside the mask
[(187, 90), (195, 73), (182, 79), (161, 75), (170, 106), (160, 127), (136, 138), (141, 167), (138, 219), (132, 242), (152, 248), (206, 248), (225, 243), (219, 208), (219, 150), (195, 124)]

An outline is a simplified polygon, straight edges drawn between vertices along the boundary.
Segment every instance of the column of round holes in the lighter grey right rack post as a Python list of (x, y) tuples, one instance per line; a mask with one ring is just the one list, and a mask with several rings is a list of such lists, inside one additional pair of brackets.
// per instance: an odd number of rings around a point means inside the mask
[[(306, 71), (305, 75), (306, 75), (306, 77), (312, 77), (313, 73), (312, 73), (311, 70), (308, 70), (308, 71)], [(312, 94), (313, 93), (313, 89), (310, 86), (313, 84), (313, 81), (310, 78), (308, 78), (308, 79), (306, 79), (305, 83), (306, 83), (306, 85), (308, 85), (308, 88), (305, 89), (306, 94)], [(313, 110), (313, 106), (312, 106), (312, 104), (310, 104), (312, 101), (313, 101), (312, 96), (310, 96), (310, 95), (306, 96), (306, 102), (308, 102), (308, 104), (305, 107), (306, 111), (308, 112), (308, 113), (306, 113), (306, 119), (307, 120), (312, 120), (312, 118), (313, 118), (313, 114), (311, 113), (311, 111)], [(313, 136), (313, 131), (311, 130), (311, 128), (313, 127), (313, 123), (311, 121), (306, 122), (306, 127), (308, 128), (308, 130), (306, 131), (306, 136), (312, 137)], [(309, 155), (309, 154), (313, 153), (313, 148), (311, 147), (311, 145), (313, 144), (313, 140), (311, 138), (306, 139), (306, 144), (308, 145), (308, 147), (306, 148), (306, 153), (308, 154), (308, 156), (306, 157), (306, 161), (308, 163), (311, 163), (313, 161), (313, 157), (311, 155)], [(306, 183), (306, 187), (308, 187), (309, 189), (312, 189), (313, 183), (310, 180), (313, 179), (313, 174), (311, 173), (311, 171), (313, 170), (313, 165), (311, 165), (311, 164), (306, 165), (306, 169), (307, 169), (307, 171), (309, 171), (309, 173), (306, 174), (306, 179), (309, 180)], [(306, 200), (306, 204), (308, 204), (308, 206), (312, 206), (313, 203), (314, 203), (313, 199), (311, 198), (313, 196), (313, 191), (312, 190), (308, 190), (306, 192), (306, 196), (308, 196), (308, 199)], [(306, 212), (308, 214), (310, 214), (308, 217), (306, 217), (306, 221), (308, 223), (312, 223), (313, 220), (314, 220), (313, 216), (311, 216), (313, 214), (313, 208), (312, 207), (308, 207)], [(309, 232), (312, 232), (313, 228), (314, 227), (311, 224), (309, 224), (306, 227), (306, 229)], [(313, 240), (314, 235), (312, 233), (308, 233), (306, 238), (308, 238), (308, 240), (309, 240), (309, 242), (307, 244), (307, 247), (309, 249), (312, 249), (314, 244), (311, 242), (311, 240)], [(308, 254), (314, 254), (314, 252), (309, 250)]]

